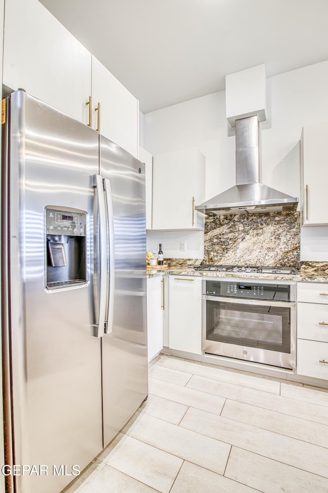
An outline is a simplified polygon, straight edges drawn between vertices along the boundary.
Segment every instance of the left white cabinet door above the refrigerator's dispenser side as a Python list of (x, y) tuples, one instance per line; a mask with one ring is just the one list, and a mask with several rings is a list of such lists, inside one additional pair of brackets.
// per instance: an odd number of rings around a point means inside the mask
[(37, 0), (6, 0), (3, 83), (88, 123), (91, 54)]

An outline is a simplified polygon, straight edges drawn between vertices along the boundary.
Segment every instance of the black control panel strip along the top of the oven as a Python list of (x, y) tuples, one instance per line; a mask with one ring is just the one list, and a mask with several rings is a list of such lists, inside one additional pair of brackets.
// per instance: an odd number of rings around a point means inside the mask
[(212, 296), (250, 298), (253, 300), (291, 301), (290, 285), (254, 282), (206, 281), (206, 293)]

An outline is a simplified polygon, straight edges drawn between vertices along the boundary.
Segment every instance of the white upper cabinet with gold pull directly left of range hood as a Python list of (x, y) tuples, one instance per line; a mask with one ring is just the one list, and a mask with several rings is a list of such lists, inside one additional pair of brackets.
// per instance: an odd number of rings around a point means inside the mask
[(204, 229), (205, 158), (196, 149), (153, 156), (153, 229)]

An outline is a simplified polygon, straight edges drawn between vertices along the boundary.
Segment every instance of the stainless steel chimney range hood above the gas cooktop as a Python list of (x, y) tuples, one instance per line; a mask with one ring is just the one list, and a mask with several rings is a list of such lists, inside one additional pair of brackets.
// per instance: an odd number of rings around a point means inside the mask
[(195, 207), (204, 214), (296, 210), (298, 198), (259, 183), (257, 115), (236, 120), (236, 185)]

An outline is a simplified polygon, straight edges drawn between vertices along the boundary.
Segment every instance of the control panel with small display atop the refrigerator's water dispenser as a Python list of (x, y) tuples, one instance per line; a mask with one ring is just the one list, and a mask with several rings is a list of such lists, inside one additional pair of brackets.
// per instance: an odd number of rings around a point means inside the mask
[(68, 210), (46, 209), (47, 234), (86, 236), (87, 214)]

